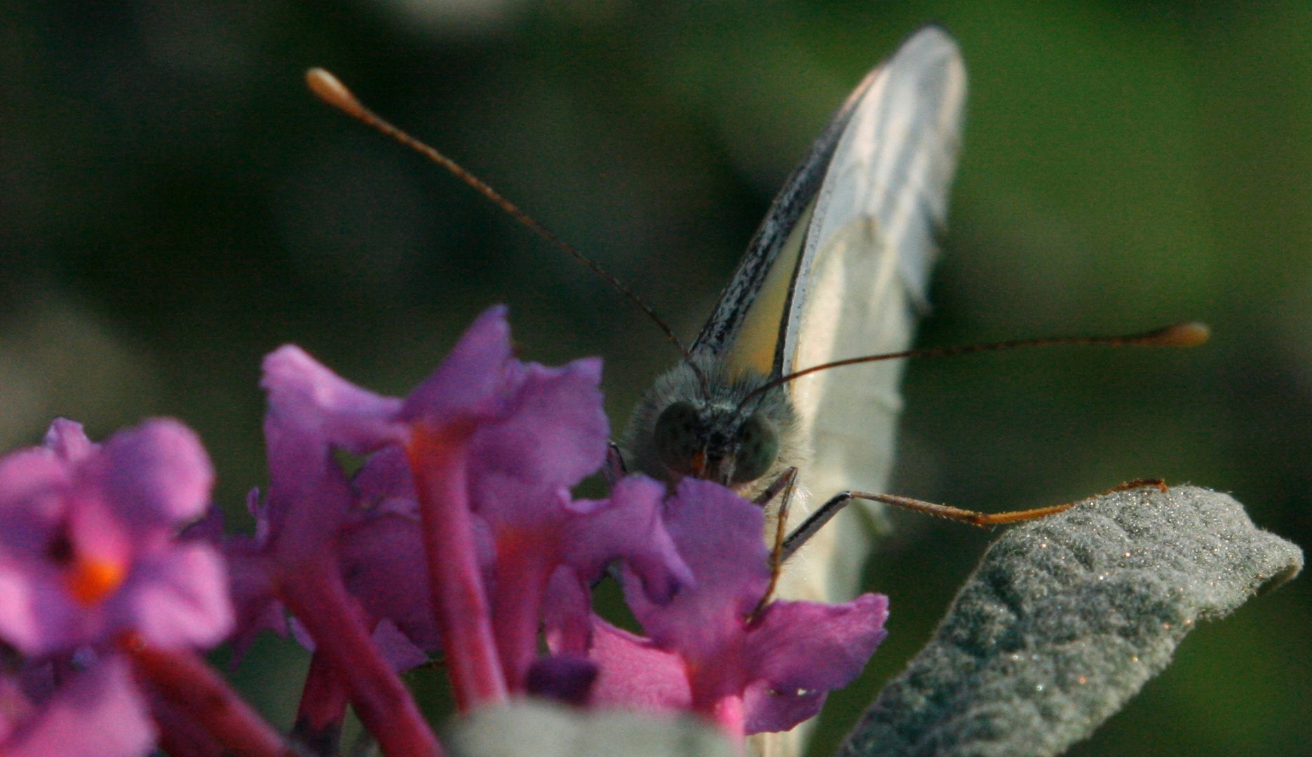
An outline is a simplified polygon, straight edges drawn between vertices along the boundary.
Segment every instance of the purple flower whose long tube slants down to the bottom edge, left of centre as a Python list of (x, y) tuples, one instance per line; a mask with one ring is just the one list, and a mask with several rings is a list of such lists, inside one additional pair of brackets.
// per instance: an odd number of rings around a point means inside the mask
[(241, 611), (235, 642), (248, 644), (265, 627), (282, 631), (283, 609), (290, 610), (332, 678), (316, 689), (323, 697), (302, 702), (303, 712), (312, 711), (323, 726), (345, 716), (349, 698), (384, 752), (436, 750), (432, 731), (395, 673), (399, 661), (417, 655), (392, 653), (409, 640), (390, 632), (395, 622), (382, 628), (384, 617), (369, 617), (342, 575), (346, 527), (369, 513), (357, 506), (336, 451), (366, 455), (403, 443), (408, 429), (395, 417), (400, 400), (356, 387), (291, 345), (265, 358), (261, 383), (269, 392), (270, 485), (262, 508), (252, 501), (256, 537), (226, 544)]

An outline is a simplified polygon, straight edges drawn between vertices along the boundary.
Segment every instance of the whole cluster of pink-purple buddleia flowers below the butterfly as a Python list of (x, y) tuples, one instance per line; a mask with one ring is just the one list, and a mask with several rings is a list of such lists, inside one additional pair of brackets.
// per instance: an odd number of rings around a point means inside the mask
[[(404, 399), (283, 346), (251, 535), (224, 534), (181, 422), (96, 443), (55, 420), (0, 460), (0, 754), (335, 754), (348, 708), (384, 754), (442, 754), (400, 677), (434, 663), (463, 714), (693, 714), (739, 745), (813, 716), (887, 600), (773, 601), (761, 509), (712, 483), (575, 499), (607, 458), (600, 379), (517, 359), (501, 307)], [(642, 634), (594, 613), (606, 575)], [(311, 649), (290, 736), (202, 657), (265, 631)]]

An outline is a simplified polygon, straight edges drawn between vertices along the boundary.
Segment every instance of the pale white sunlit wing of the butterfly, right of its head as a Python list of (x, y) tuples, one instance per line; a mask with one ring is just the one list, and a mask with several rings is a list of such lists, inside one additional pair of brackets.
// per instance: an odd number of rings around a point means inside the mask
[[(947, 215), (964, 98), (960, 51), (938, 28), (913, 35), (874, 73), (817, 194), (783, 336), (785, 374), (909, 346)], [(886, 491), (901, 370), (900, 361), (875, 362), (792, 382), (811, 497), (790, 522), (845, 489)], [(858, 506), (794, 556), (783, 597), (851, 597), (869, 551)]]

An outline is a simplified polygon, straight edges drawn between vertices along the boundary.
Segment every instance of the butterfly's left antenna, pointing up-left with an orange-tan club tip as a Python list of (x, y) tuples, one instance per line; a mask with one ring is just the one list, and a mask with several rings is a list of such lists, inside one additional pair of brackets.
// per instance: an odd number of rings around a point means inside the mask
[[(396, 126), (388, 123), (384, 118), (382, 118), (373, 110), (365, 108), (365, 105), (350, 92), (350, 89), (346, 89), (346, 85), (342, 84), (336, 76), (333, 76), (328, 71), (323, 68), (311, 68), (306, 71), (306, 84), (310, 87), (310, 91), (315, 93), (315, 96), (318, 96), (328, 105), (332, 105), (337, 110), (341, 110), (346, 115), (350, 115), (352, 118), (365, 123), (366, 126), (371, 126), (373, 129), (380, 131), (386, 136), (390, 136), (396, 142), (400, 142), (405, 147), (409, 147), (411, 150), (428, 157), (433, 163), (450, 171), (453, 174), (455, 174), (457, 178), (472, 186), (475, 190), (478, 190), (479, 194), (491, 199), (501, 210), (510, 214), (512, 218), (518, 220), (521, 224), (526, 226), (529, 231), (537, 234), (542, 239), (563, 249), (565, 253), (572, 256), (579, 262), (588, 266), (589, 270), (592, 270), (593, 273), (600, 276), (606, 283), (613, 286), (615, 291), (627, 297), (630, 302), (632, 302), (643, 312), (646, 312), (647, 317), (652, 319), (656, 327), (660, 328), (663, 332), (665, 332), (665, 337), (676, 348), (678, 348), (678, 352), (684, 356), (684, 359), (691, 362), (691, 353), (689, 353), (687, 348), (684, 346), (684, 342), (680, 341), (678, 336), (674, 333), (674, 329), (670, 328), (668, 323), (665, 323), (665, 319), (656, 315), (656, 311), (652, 310), (652, 307), (647, 304), (640, 297), (638, 297), (638, 294), (635, 294), (634, 290), (628, 289), (628, 286), (625, 285), (625, 282), (619, 281), (609, 270), (601, 268), (601, 265), (598, 265), (597, 261), (579, 252), (579, 249), (575, 245), (556, 236), (555, 232), (538, 223), (538, 220), (534, 219), (527, 213), (520, 210), (520, 206), (514, 205), (513, 202), (502, 197), (501, 193), (492, 189), (485, 181), (483, 181), (478, 176), (474, 176), (472, 173), (466, 171), (461, 164), (442, 155), (437, 150), (433, 150), (428, 144), (424, 144), (419, 139), (415, 139), (409, 134), (405, 134)], [(697, 370), (697, 374), (698, 377), (701, 377), (701, 370)], [(705, 380), (706, 379), (702, 378), (703, 383)]]

